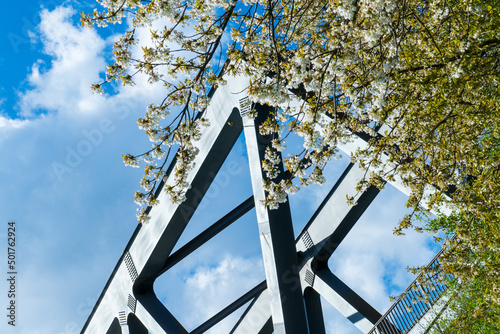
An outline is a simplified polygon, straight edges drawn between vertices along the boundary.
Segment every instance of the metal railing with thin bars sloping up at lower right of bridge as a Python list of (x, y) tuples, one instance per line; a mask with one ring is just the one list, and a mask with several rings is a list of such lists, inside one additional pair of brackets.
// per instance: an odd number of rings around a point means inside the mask
[(368, 334), (408, 333), (431, 309), (452, 279), (440, 268), (441, 253), (429, 263), (428, 273), (420, 274), (410, 284)]

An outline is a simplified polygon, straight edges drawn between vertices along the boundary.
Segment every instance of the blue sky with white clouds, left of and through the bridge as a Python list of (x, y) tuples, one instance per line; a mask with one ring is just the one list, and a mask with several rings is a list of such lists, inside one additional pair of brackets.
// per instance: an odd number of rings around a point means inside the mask
[[(79, 333), (136, 226), (133, 192), (141, 171), (125, 167), (120, 155), (148, 147), (136, 119), (162, 98), (162, 88), (139, 78), (112, 95), (90, 92), (121, 29), (82, 29), (78, 13), (91, 5), (8, 2), (0, 13), (0, 249), (14, 219), (19, 273), (17, 326), (1, 317), (1, 333)], [(251, 194), (243, 139), (229, 161), (180, 244)], [(296, 234), (346, 164), (333, 162), (326, 185), (291, 198)], [(390, 305), (388, 294), (412, 280), (404, 268), (435, 253), (425, 236), (392, 236), (404, 201), (396, 190), (384, 190), (330, 261), (381, 312)], [(159, 278), (155, 290), (194, 328), (264, 279), (259, 247), (250, 212)], [(0, 255), (4, 274), (6, 257)], [(6, 307), (7, 283), (0, 282)], [(325, 316), (330, 333), (357, 332), (333, 308)], [(223, 326), (212, 333), (224, 333)]]

